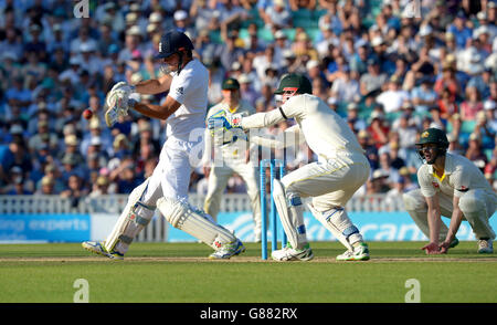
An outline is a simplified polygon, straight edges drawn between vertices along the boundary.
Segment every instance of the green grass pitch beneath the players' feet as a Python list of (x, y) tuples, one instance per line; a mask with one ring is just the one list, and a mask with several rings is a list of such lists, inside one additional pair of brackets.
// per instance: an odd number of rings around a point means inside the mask
[(310, 262), (261, 260), (261, 244), (211, 261), (200, 243), (134, 243), (125, 261), (78, 243), (1, 244), (1, 303), (72, 303), (77, 279), (91, 303), (496, 303), (497, 255), (461, 242), (425, 255), (423, 242), (370, 242), (371, 260), (336, 262), (338, 242), (314, 242)]

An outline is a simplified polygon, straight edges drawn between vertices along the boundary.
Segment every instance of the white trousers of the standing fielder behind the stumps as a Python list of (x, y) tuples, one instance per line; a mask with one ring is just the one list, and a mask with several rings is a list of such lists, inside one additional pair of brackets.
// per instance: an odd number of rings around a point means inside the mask
[(209, 187), (203, 205), (203, 210), (216, 220), (221, 209), (221, 198), (226, 188), (228, 180), (236, 172), (245, 181), (246, 190), (252, 206), (252, 216), (254, 219), (255, 240), (261, 238), (261, 193), (257, 168), (253, 164), (245, 164), (241, 160), (224, 160), (223, 166), (213, 166), (209, 174)]

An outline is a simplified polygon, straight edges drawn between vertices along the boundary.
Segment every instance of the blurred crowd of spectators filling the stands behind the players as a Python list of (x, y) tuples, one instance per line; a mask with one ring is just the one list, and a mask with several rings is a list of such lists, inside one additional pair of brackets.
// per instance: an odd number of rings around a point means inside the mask
[[(186, 32), (209, 69), (209, 106), (230, 76), (243, 99), (269, 111), (279, 78), (306, 74), (370, 160), (358, 196), (416, 187), (414, 144), (426, 127), (446, 130), (450, 151), (497, 189), (496, 1), (88, 0), (87, 17), (77, 2), (0, 0), (0, 195), (77, 200), (129, 193), (147, 178), (165, 122), (131, 112), (109, 129), (103, 105), (115, 83), (163, 73), (154, 55), (168, 29)], [(316, 160), (305, 145), (290, 157), (289, 169)], [(191, 191), (204, 180), (198, 168)], [(228, 191), (245, 190), (230, 180)]]

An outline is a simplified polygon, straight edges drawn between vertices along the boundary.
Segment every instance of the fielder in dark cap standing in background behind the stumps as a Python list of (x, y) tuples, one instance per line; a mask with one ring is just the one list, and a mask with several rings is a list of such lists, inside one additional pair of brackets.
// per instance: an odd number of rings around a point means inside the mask
[[(207, 115), (221, 116), (229, 114), (241, 114), (248, 116), (255, 113), (255, 108), (241, 98), (240, 83), (229, 77), (222, 84), (223, 99), (212, 106)], [(240, 175), (246, 184), (247, 195), (251, 200), (254, 227), (254, 241), (261, 241), (261, 195), (258, 187), (258, 174), (256, 165), (250, 160), (251, 144), (246, 135), (240, 130), (231, 134), (229, 140), (224, 141), (225, 133), (205, 134), (204, 167), (210, 168), (209, 187), (203, 205), (203, 210), (216, 220), (221, 208), (221, 197), (226, 188), (230, 177), (234, 172)], [(233, 137), (235, 140), (233, 140)], [(212, 146), (213, 145), (213, 146)], [(212, 150), (213, 149), (213, 150)]]

